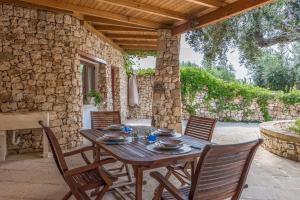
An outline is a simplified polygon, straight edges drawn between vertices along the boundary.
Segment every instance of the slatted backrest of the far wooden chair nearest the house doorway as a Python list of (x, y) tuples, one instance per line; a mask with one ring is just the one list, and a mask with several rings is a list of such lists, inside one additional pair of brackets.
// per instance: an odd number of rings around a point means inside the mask
[(111, 124), (121, 124), (119, 111), (91, 112), (92, 129), (105, 128)]

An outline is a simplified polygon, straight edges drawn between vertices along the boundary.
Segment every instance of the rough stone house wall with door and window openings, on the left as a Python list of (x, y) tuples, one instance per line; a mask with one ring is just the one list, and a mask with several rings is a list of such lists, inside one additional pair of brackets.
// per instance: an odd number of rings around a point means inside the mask
[[(107, 62), (99, 69), (99, 80), (105, 81), (99, 81), (98, 90), (104, 94), (103, 109), (112, 109), (111, 67), (120, 68), (119, 88), (127, 91), (119, 50), (68, 14), (0, 3), (0, 112), (48, 111), (60, 145), (65, 149), (81, 144), (80, 52)], [(126, 110), (126, 97), (117, 98)], [(40, 149), (39, 134), (24, 131), (21, 143), (12, 148)]]

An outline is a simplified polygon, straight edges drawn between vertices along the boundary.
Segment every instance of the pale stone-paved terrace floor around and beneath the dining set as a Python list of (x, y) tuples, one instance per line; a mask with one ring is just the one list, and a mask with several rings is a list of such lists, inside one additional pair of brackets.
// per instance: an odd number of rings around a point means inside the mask
[[(131, 124), (150, 124), (149, 120), (130, 120)], [(237, 143), (256, 139), (258, 124), (218, 123), (213, 142)], [(79, 157), (70, 165), (81, 163)], [(159, 169), (164, 172), (164, 169)], [(156, 182), (146, 173), (144, 199), (152, 199)], [(244, 190), (244, 200), (299, 200), (300, 163), (275, 156), (260, 148), (250, 170)], [(0, 200), (57, 200), (68, 191), (52, 158), (37, 158), (34, 154), (11, 155), (0, 163)], [(105, 199), (113, 199), (107, 194)]]

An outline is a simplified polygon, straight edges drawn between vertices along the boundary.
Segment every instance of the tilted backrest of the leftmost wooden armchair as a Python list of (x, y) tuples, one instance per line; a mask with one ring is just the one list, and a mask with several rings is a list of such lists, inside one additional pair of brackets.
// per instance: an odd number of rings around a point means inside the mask
[(68, 170), (68, 166), (67, 166), (66, 160), (63, 156), (63, 152), (59, 146), (59, 143), (58, 143), (54, 133), (52, 132), (52, 130), (49, 127), (46, 127), (44, 125), (43, 121), (39, 121), (39, 124), (42, 126), (43, 130), (45, 131), (45, 133), (47, 135), (56, 166), (57, 166), (59, 172), (61, 173), (61, 175), (64, 176), (64, 172)]

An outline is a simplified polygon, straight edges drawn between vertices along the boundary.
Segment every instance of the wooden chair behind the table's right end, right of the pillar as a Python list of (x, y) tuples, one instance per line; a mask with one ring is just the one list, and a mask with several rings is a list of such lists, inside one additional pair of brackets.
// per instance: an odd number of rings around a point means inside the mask
[[(188, 120), (184, 134), (201, 140), (211, 141), (217, 119), (191, 116)], [(179, 162), (167, 167), (169, 178), (172, 174), (181, 182), (182, 185), (190, 184), (191, 174), (188, 169), (194, 170), (193, 162)]]

